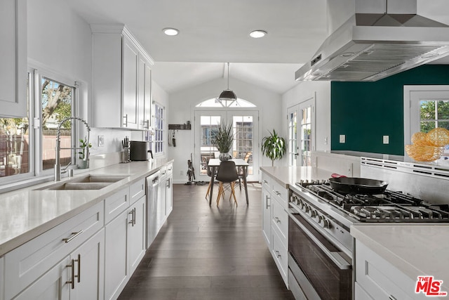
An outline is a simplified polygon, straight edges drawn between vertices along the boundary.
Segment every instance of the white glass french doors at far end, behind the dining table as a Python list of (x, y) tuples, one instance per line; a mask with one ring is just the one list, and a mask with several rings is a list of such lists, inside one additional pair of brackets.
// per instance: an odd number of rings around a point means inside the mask
[(218, 158), (219, 152), (212, 144), (212, 132), (219, 124), (232, 123), (234, 132), (233, 158), (248, 162), (248, 181), (258, 181), (259, 174), (259, 113), (254, 110), (196, 110), (195, 158), (196, 180), (208, 181), (207, 161)]

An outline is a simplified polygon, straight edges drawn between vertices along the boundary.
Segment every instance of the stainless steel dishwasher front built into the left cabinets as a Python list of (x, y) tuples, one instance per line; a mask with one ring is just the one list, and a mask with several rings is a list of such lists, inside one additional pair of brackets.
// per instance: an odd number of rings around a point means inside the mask
[(147, 249), (151, 246), (158, 233), (157, 226), (157, 211), (158, 196), (159, 196), (159, 177), (161, 172), (147, 177)]

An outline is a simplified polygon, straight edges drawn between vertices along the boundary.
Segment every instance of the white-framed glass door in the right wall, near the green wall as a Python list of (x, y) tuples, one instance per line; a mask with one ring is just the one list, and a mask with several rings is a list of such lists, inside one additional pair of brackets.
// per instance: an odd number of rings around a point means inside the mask
[(289, 107), (287, 155), (289, 166), (311, 166), (315, 150), (315, 97)]

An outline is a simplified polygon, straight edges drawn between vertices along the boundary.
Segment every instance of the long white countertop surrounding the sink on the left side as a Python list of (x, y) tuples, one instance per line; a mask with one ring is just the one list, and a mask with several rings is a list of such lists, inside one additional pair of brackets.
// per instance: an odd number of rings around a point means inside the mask
[(123, 186), (153, 174), (168, 162), (172, 161), (113, 164), (58, 181), (64, 183), (88, 174), (127, 176), (100, 190), (36, 190), (55, 184), (49, 181), (0, 194), (0, 256), (101, 202)]

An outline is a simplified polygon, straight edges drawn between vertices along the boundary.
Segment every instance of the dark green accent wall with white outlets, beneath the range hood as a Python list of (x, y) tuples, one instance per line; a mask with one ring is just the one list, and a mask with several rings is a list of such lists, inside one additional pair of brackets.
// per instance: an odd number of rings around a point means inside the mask
[(331, 150), (403, 155), (403, 86), (426, 84), (449, 84), (449, 65), (422, 65), (375, 82), (331, 82)]

